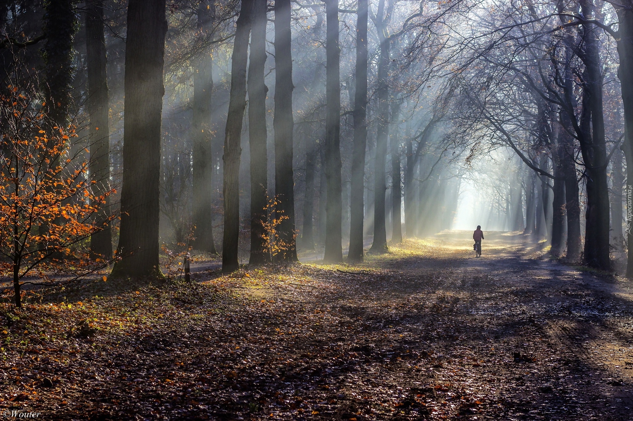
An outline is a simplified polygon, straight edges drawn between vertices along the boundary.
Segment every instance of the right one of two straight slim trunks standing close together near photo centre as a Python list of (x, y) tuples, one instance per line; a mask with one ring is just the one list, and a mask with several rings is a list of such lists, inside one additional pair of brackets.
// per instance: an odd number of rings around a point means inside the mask
[(356, 20), (356, 71), (354, 89), (354, 146), (352, 152), (349, 227), (350, 261), (363, 259), (363, 217), (365, 203), (365, 153), (367, 150), (367, 13), (368, 0), (358, 0)]

